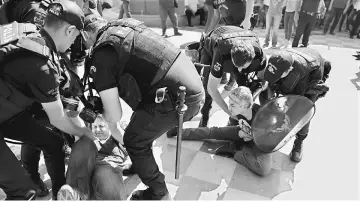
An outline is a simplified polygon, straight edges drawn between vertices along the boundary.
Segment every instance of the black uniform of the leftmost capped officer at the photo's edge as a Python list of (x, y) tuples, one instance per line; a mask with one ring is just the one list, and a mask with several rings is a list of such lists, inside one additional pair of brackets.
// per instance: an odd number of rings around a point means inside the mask
[[(37, 103), (53, 102), (59, 96), (60, 84), (60, 65), (57, 57), (55, 44), (48, 33), (41, 30), (39, 34), (32, 34), (26, 39), (33, 41), (30, 50), (37, 48), (43, 50), (42, 54), (34, 51), (18, 51), (6, 56), (2, 61), (2, 80), (6, 85), (0, 85), (3, 88), (0, 92), (1, 118), (6, 119), (1, 123), (0, 134), (2, 137), (18, 140), (30, 144), (44, 151), (45, 161), (47, 163), (48, 173), (52, 180), (53, 193), (56, 194), (60, 187), (65, 184), (65, 163), (64, 163), (64, 140), (57, 133), (44, 127), (33, 116), (32, 107)], [(6, 52), (11, 48), (11, 44), (1, 50)], [(39, 48), (40, 47), (40, 48)], [(38, 51), (39, 52), (39, 51)], [(21, 60), (18, 60), (21, 58)], [(24, 68), (26, 66), (26, 68)], [(3, 83), (4, 84), (4, 83)], [(23, 99), (14, 98), (11, 100), (11, 93), (6, 94), (6, 86), (11, 86), (21, 95)], [(4, 94), (5, 93), (5, 94)], [(6, 101), (7, 99), (9, 101)], [(30, 99), (29, 99), (30, 98)], [(25, 100), (29, 102), (25, 102)], [(24, 101), (23, 105), (17, 102)], [(4, 112), (4, 106), (9, 103), (17, 103), (16, 106), (22, 106), (18, 109), (18, 114), (8, 110), (10, 115)], [(32, 106), (35, 103), (35, 106)], [(10, 104), (11, 106), (11, 104)], [(14, 108), (12, 108), (14, 109)], [(15, 116), (13, 116), (15, 115)], [(5, 116), (5, 118), (4, 118)], [(26, 192), (34, 189), (31, 179), (25, 175), (25, 172), (4, 139), (0, 139), (0, 161), (6, 162), (0, 166), (0, 187), (5, 191), (9, 199), (23, 199)]]

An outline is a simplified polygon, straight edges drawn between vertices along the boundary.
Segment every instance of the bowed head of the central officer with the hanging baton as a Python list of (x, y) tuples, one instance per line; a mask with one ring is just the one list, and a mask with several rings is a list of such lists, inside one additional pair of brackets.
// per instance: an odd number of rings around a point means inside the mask
[(85, 47), (89, 49), (96, 42), (96, 37), (101, 28), (103, 28), (108, 22), (99, 15), (92, 14), (85, 18), (85, 32), (86, 42)]

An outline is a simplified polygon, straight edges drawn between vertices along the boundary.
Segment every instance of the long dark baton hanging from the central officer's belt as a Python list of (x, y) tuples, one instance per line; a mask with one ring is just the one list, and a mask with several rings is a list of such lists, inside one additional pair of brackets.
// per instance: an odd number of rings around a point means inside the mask
[(184, 104), (186, 88), (184, 86), (180, 86), (177, 93), (177, 105), (176, 111), (178, 114), (179, 125), (178, 125), (178, 135), (176, 142), (176, 161), (175, 161), (175, 179), (179, 179), (180, 173), (180, 156), (181, 156), (181, 140), (182, 140), (182, 129), (183, 129), (183, 121), (184, 121), (184, 113), (187, 110), (187, 106)]

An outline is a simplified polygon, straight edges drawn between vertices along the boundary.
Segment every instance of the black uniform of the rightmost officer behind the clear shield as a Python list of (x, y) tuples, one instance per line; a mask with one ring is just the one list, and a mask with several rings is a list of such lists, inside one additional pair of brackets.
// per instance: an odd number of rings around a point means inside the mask
[[(287, 50), (280, 50), (279, 53), (281, 54), (282, 51), (286, 51), (289, 53), (292, 58), (294, 59), (293, 63), (293, 70), (289, 73), (288, 76), (278, 80), (276, 83), (270, 85), (270, 89), (277, 94), (282, 95), (302, 95), (309, 98), (311, 101), (316, 102), (319, 97), (325, 95), (328, 91), (328, 87), (324, 86), (325, 78), (328, 77), (328, 73), (330, 70), (324, 69), (324, 58), (314, 49), (310, 48), (292, 48)], [(291, 63), (291, 61), (288, 61)], [(270, 60), (269, 60), (269, 63)], [(275, 64), (274, 64), (275, 65)], [(280, 66), (275, 65), (276, 68), (281, 68)], [(276, 72), (277, 70), (271, 69), (268, 67), (265, 70), (264, 79), (269, 80), (267, 75), (271, 75)], [(281, 76), (282, 73), (279, 73)], [(270, 83), (272, 83), (269, 80)], [(324, 90), (318, 94), (311, 93), (311, 91), (316, 90)], [(292, 151), (292, 159), (294, 161), (300, 161), (300, 159), (296, 159), (294, 157), (296, 152), (301, 152), (301, 144), (302, 141), (307, 137), (309, 132), (310, 123), (305, 125), (296, 135), (296, 140), (294, 142), (294, 148)]]

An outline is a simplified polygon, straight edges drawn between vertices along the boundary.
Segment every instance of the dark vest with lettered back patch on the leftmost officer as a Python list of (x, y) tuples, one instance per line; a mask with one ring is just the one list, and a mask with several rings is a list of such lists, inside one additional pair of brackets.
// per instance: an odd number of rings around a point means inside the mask
[[(36, 26), (32, 24), (18, 24), (14, 22), (0, 26), (1, 72), (9, 56), (13, 57), (18, 53), (29, 52), (39, 55), (50, 62), (52, 52), (35, 31)], [(3, 73), (0, 75), (3, 75)], [(0, 76), (0, 124), (23, 112), (33, 102), (32, 98), (25, 96)]]

